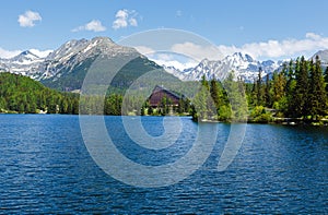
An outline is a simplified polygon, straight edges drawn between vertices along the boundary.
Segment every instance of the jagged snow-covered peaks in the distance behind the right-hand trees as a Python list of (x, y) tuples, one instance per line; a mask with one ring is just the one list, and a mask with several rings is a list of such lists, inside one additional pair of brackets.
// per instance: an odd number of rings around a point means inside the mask
[(272, 60), (257, 61), (249, 55), (236, 52), (225, 57), (223, 60), (211, 61), (202, 60), (197, 67), (185, 69), (184, 71), (175, 68), (165, 68), (168, 73), (174, 74), (183, 81), (201, 80), (204, 75), (207, 79), (224, 79), (231, 71), (235, 72), (235, 76), (239, 76), (246, 82), (253, 82), (258, 71), (262, 69), (262, 75), (272, 73), (282, 64), (282, 61), (274, 62)]

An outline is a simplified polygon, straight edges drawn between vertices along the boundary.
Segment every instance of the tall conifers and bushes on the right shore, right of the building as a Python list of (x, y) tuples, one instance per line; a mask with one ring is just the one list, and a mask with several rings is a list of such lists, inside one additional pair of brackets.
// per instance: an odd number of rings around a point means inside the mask
[(194, 119), (269, 122), (293, 118), (304, 122), (328, 115), (328, 68), (323, 72), (318, 57), (291, 60), (281, 72), (258, 77), (253, 84), (236, 79), (232, 72), (222, 83), (201, 80), (192, 99)]

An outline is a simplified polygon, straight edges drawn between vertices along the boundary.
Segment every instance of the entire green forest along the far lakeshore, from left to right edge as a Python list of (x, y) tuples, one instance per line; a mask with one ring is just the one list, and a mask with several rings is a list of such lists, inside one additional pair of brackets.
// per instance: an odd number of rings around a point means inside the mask
[[(150, 107), (144, 95), (107, 93), (80, 96), (45, 87), (30, 77), (0, 73), (0, 112), (93, 114), (165, 116), (190, 115), (195, 120), (271, 122), (291, 118), (303, 122), (320, 121), (328, 115), (328, 69), (320, 60), (304, 57), (284, 63), (281, 71), (245, 83), (232, 71), (222, 82), (200, 81), (191, 98), (172, 108), (163, 98)], [(188, 87), (188, 83), (185, 83)], [(124, 91), (122, 91), (124, 92)], [(145, 100), (145, 101), (144, 101)], [(79, 109), (80, 108), (80, 109)]]

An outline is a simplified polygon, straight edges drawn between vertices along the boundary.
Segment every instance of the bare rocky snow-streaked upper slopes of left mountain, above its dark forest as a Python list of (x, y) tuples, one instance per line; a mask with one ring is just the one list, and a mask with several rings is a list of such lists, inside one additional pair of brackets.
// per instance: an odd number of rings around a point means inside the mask
[(73, 39), (57, 50), (49, 51), (48, 55), (31, 49), (10, 59), (0, 59), (0, 71), (23, 74), (37, 81), (56, 80), (99, 53), (108, 57), (140, 55), (134, 48), (119, 46), (108, 37), (95, 37), (91, 40)]

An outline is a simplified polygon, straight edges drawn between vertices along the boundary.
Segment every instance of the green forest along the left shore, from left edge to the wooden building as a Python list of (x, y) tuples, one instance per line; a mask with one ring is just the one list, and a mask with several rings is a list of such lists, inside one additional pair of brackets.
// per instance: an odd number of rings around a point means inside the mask
[[(188, 103), (190, 104), (190, 103)], [(185, 111), (183, 107), (177, 111)], [(124, 96), (109, 92), (106, 96), (58, 92), (27, 76), (0, 73), (0, 112), (19, 114), (71, 114), (71, 115), (166, 115), (169, 100), (163, 99), (160, 109), (149, 107), (144, 95)]]

